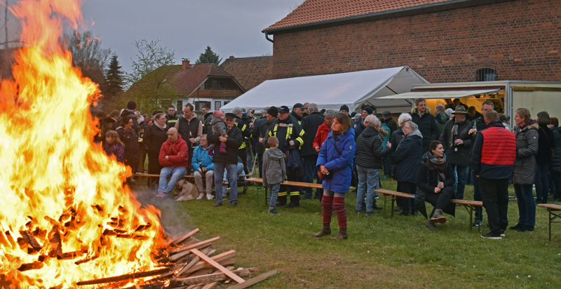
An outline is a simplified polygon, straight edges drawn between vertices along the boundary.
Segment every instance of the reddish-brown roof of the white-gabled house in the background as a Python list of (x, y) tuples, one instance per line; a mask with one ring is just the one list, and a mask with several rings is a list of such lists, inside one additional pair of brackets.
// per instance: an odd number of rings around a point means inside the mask
[(182, 69), (182, 65), (173, 65), (169, 74), (171, 75), (173, 88), (177, 93), (184, 95), (190, 95), (210, 76), (234, 79), (233, 75), (213, 64), (191, 65), (189, 69)]

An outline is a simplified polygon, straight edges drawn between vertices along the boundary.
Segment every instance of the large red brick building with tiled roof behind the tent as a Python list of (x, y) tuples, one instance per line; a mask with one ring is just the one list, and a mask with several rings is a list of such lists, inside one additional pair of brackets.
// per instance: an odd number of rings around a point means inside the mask
[(561, 80), (558, 0), (306, 0), (263, 30), (273, 78), (409, 66), (426, 80)]

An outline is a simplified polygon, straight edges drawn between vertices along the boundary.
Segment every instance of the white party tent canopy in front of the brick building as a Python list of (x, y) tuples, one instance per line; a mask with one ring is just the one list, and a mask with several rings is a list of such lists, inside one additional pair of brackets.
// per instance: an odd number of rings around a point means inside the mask
[(247, 93), (238, 96), (221, 110), (231, 112), (234, 107), (255, 109), (286, 105), (290, 109), (295, 103), (316, 103), (319, 109), (334, 109), (337, 112), (347, 105), (350, 112), (360, 109), (368, 102), (378, 107), (379, 112), (408, 112), (409, 100), (376, 100), (386, 95), (407, 93), (413, 84), (428, 83), (409, 67), (392, 67), (317, 76), (303, 76), (292, 79), (264, 81)]

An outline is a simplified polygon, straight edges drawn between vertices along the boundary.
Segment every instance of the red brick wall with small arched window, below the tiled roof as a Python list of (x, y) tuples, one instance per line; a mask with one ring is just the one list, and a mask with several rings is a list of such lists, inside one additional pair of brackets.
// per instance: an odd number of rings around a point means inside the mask
[(432, 83), (561, 81), (561, 1), (509, 1), (274, 35), (276, 79), (407, 65)]

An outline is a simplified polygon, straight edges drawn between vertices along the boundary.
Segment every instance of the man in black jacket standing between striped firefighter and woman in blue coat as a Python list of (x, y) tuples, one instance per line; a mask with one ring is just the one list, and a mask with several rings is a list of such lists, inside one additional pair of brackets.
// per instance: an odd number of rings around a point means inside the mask
[[(310, 114), (302, 119), (302, 129), (309, 137), (302, 145), (300, 156), (304, 159), (304, 182), (313, 182), (314, 177), (317, 179), (318, 174), (316, 162), (318, 161), (318, 152), (313, 149), (313, 138), (316, 137), (318, 128), (325, 122), (325, 118), (318, 112), (318, 105), (311, 103), (308, 106)], [(323, 195), (323, 189), (316, 189), (316, 198), (319, 199)], [(304, 196), (301, 199), (312, 199), (311, 188), (304, 189)]]

